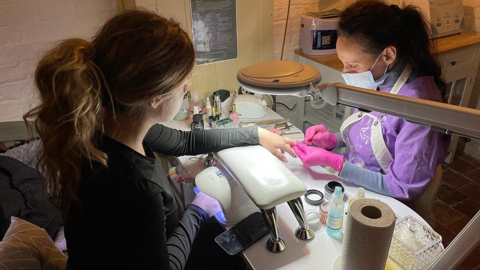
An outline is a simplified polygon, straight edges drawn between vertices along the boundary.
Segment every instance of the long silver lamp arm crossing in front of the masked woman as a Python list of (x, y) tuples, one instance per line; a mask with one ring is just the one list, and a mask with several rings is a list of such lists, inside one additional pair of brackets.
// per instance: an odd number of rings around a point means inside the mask
[(311, 96), (310, 103), (316, 108), (322, 107), (325, 102), (346, 105), (361, 111), (396, 116), (446, 134), (480, 140), (479, 110), (342, 83), (321, 84), (317, 87), (310, 85), (307, 95)]

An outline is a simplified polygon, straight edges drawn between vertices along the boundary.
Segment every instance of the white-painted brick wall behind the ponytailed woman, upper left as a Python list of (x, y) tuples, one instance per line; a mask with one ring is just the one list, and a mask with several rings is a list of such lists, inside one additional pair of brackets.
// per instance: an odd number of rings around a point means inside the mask
[(0, 0), (0, 121), (21, 120), (36, 104), (33, 73), (48, 48), (90, 40), (117, 11), (117, 0)]

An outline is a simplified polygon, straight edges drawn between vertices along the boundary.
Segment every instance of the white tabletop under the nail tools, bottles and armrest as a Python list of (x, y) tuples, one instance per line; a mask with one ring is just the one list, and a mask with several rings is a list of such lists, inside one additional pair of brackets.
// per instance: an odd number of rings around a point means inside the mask
[[(229, 108), (224, 111), (228, 112)], [(278, 114), (269, 109), (269, 113), (263, 119), (278, 119), (281, 118)], [(181, 130), (190, 130), (191, 119), (185, 121), (170, 121), (163, 123), (166, 126), (177, 128)], [(207, 128), (208, 124), (206, 124)], [(292, 128), (290, 132), (300, 130)], [(292, 139), (301, 140), (303, 134), (296, 134)], [(318, 189), (324, 192), (325, 184), (335, 180), (339, 181), (345, 187), (345, 194), (348, 199), (353, 198), (357, 193), (358, 186), (341, 180), (332, 175), (324, 168), (318, 166), (311, 169), (303, 167), (299, 158), (293, 158), (286, 154), (288, 158), (287, 167), (302, 180), (308, 189)], [(180, 161), (188, 160), (189, 156), (180, 157)], [(401, 202), (381, 195), (369, 190), (365, 191), (365, 197), (379, 199), (388, 204), (397, 216), (397, 220), (411, 215), (427, 224), (423, 218), (420, 217), (414, 210), (411, 210)], [(303, 199), (303, 196), (302, 196)], [(347, 204), (346, 204), (347, 205)], [(310, 206), (303, 201), (305, 210), (318, 209), (318, 207)], [(295, 237), (295, 229), (299, 226), (292, 211), (286, 203), (278, 205), (278, 231), (279, 236), (285, 240), (286, 248), (283, 252), (272, 253), (267, 250), (266, 243), (270, 235), (265, 236), (251, 247), (243, 251), (243, 256), (246, 262), (252, 269), (269, 270), (269, 269), (331, 269), (334, 260), (340, 254), (342, 249), (342, 239), (333, 239), (327, 235), (326, 226), (322, 226), (315, 232), (315, 238), (309, 241), (301, 241)], [(344, 218), (345, 222), (345, 218)]]

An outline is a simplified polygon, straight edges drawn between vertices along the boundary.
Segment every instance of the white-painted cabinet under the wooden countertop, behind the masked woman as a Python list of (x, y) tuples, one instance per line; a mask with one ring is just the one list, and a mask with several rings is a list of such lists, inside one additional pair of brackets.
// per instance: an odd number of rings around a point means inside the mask
[[(453, 105), (468, 106), (472, 93), (477, 69), (479, 67), (480, 43), (440, 53), (438, 61), (442, 66), (442, 75), (447, 83), (447, 90), (444, 95), (444, 102)], [(299, 61), (317, 68), (322, 74), (322, 82), (343, 82), (339, 70), (333, 69), (325, 64), (309, 60), (299, 56)], [(331, 106), (327, 104), (321, 109), (313, 108), (305, 98), (296, 98), (297, 106), (295, 116), (291, 117), (294, 124), (304, 129), (311, 125), (323, 123), (332, 132), (338, 132), (340, 125), (353, 109), (341, 105)], [(309, 99), (307, 97), (306, 99)], [(446, 162), (451, 162), (458, 144), (458, 136), (452, 136), (449, 154)]]

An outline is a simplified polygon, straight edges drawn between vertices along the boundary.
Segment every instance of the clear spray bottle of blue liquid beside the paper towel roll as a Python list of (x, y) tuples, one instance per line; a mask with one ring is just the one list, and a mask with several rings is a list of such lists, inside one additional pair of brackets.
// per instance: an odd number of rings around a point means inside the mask
[(329, 217), (327, 219), (327, 234), (333, 238), (339, 238), (342, 235), (343, 210), (345, 202), (343, 202), (343, 193), (340, 186), (335, 187), (335, 191), (331, 196), (329, 204)]

